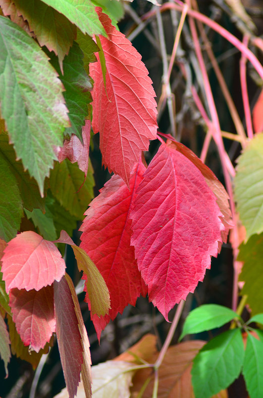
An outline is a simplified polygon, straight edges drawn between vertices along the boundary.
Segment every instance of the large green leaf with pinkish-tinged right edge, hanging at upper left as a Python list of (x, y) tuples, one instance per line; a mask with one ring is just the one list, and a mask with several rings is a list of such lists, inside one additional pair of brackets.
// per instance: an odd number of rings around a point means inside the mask
[(53, 146), (68, 127), (63, 86), (46, 54), (23, 29), (0, 16), (0, 102), (18, 159), (43, 195), (53, 167)]

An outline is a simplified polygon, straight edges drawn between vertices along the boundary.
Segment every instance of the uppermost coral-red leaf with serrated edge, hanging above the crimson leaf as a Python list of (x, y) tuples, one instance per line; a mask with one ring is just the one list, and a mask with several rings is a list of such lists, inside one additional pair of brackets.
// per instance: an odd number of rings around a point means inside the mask
[[(100, 132), (103, 163), (129, 184), (130, 172), (149, 140), (156, 139), (156, 101), (152, 80), (131, 42), (96, 7), (108, 39), (100, 35), (106, 63), (106, 90), (100, 62), (90, 65), (94, 133)], [(97, 55), (99, 60), (99, 55)]]

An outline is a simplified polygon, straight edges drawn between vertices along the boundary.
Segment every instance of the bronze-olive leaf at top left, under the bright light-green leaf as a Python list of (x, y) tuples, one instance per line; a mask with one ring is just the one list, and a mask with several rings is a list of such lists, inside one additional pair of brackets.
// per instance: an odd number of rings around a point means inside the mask
[(12, 0), (18, 15), (26, 19), (41, 47), (54, 51), (60, 65), (76, 38), (74, 26), (63, 14), (40, 0)]

